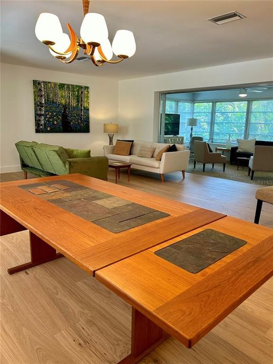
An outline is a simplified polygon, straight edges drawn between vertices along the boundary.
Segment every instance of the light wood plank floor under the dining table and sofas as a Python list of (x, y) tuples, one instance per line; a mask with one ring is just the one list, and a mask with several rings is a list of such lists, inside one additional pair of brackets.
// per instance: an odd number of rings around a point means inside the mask
[[(23, 173), (0, 177), (22, 179)], [(190, 173), (165, 179), (138, 172), (128, 183), (121, 172), (119, 183), (253, 221), (260, 186)], [(261, 224), (273, 227), (272, 216), (273, 206), (264, 204)], [(26, 231), (2, 237), (1, 251), (1, 364), (115, 364), (128, 354), (124, 301), (66, 258), (9, 276), (8, 267), (29, 259)], [(192, 349), (170, 338), (140, 363), (271, 364), (272, 292), (271, 279)]]

